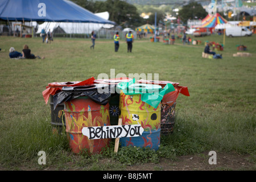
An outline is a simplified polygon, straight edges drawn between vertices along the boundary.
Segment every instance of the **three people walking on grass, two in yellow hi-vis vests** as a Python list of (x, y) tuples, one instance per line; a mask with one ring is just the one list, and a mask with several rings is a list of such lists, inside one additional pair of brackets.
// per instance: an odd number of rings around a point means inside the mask
[[(129, 31), (125, 37), (126, 37), (126, 43), (127, 43), (127, 52), (131, 52), (131, 49), (133, 48), (134, 35), (131, 31)], [(96, 34), (94, 33), (94, 31), (92, 31), (92, 34), (91, 34), (92, 46), (90, 46), (90, 49), (92, 48), (94, 49), (96, 38), (97, 38)], [(118, 49), (119, 49), (119, 39), (120, 39), (119, 33), (115, 32), (115, 35), (114, 35), (115, 52), (118, 52)]]

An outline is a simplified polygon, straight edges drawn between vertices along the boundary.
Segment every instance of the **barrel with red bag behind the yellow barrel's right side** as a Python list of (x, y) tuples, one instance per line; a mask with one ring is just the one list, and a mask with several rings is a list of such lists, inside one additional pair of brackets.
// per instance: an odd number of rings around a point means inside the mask
[(175, 88), (174, 92), (167, 93), (163, 96), (161, 102), (161, 134), (168, 135), (173, 133), (175, 125), (175, 107), (176, 99), (179, 93), (189, 96), (188, 88), (186, 86), (179, 86), (178, 82), (171, 81), (155, 81), (155, 80), (138, 80), (139, 83), (156, 84), (166, 86), (167, 84), (172, 84)]

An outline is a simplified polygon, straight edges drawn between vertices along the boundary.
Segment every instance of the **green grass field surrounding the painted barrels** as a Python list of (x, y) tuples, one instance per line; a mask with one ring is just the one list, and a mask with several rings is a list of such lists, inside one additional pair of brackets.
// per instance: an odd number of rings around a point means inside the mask
[[(56, 38), (43, 44), (40, 38), (0, 37), (0, 167), (120, 170), (125, 164), (158, 163), (212, 150), (250, 154), (255, 162), (256, 37), (226, 38), (224, 51), (219, 52), (223, 59), (201, 57), (205, 40), (223, 43), (223, 36), (193, 39), (202, 44), (135, 40), (133, 52), (127, 53), (123, 40), (114, 52), (113, 41), (105, 39), (97, 39), (92, 50), (89, 39)], [(240, 43), (253, 56), (233, 57)], [(24, 44), (46, 59), (10, 59), (9, 48), (21, 52)], [(188, 87), (190, 97), (177, 98), (174, 133), (161, 138), (159, 151), (119, 148), (114, 155), (111, 146), (101, 155), (74, 155), (65, 135), (52, 134), (50, 107), (42, 96), (47, 84), (83, 81), (100, 73), (110, 77), (110, 69), (115, 75), (158, 73), (159, 80)], [(46, 165), (38, 164), (39, 151), (46, 152)], [(100, 164), (100, 159), (106, 163)]]

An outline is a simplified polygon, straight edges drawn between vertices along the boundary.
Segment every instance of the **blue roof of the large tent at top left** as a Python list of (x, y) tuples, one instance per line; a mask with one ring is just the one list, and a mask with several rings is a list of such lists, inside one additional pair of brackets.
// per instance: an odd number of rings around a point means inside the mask
[[(39, 16), (46, 5), (46, 16)], [(40, 22), (84, 22), (115, 24), (68, 0), (1, 0), (0, 19)]]

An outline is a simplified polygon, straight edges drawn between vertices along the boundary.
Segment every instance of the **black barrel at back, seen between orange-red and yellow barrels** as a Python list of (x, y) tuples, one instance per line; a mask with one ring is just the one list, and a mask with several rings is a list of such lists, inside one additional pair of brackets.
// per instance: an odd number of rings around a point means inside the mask
[[(96, 84), (109, 84), (109, 85), (117, 85), (120, 82), (129, 82), (131, 78), (121, 77), (115, 79), (98, 79), (94, 80)], [(118, 117), (119, 117), (119, 93), (114, 90), (111, 91), (111, 97), (109, 100), (109, 114), (110, 114), (110, 125), (118, 125)]]

